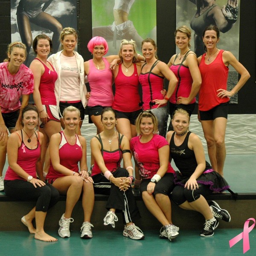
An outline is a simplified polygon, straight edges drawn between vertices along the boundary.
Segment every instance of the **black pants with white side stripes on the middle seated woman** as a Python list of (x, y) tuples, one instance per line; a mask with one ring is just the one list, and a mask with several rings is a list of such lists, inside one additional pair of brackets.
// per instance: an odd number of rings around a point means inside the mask
[[(118, 168), (112, 174), (115, 178), (129, 176), (129, 173), (124, 168)], [(109, 195), (106, 208), (113, 208), (116, 209), (116, 212), (122, 212), (124, 224), (132, 222), (134, 218), (140, 217), (131, 187), (125, 192), (120, 191), (119, 187), (111, 183), (101, 173), (93, 175), (92, 178), (95, 194)]]

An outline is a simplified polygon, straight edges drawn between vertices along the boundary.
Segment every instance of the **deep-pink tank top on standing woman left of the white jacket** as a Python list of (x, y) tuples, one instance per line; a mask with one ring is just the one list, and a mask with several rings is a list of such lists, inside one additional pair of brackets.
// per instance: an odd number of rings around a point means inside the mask
[(41, 76), (39, 92), (43, 105), (57, 105), (56, 96), (54, 93), (55, 81), (58, 79), (58, 74), (52, 67), (52, 64), (47, 61), (52, 70), (50, 70), (40, 59), (35, 58), (44, 65), (44, 74)]

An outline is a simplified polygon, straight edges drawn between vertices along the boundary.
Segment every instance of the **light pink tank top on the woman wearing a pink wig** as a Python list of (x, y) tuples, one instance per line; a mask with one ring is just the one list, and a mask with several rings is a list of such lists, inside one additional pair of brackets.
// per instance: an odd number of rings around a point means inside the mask
[(93, 65), (93, 60), (89, 60), (89, 74), (87, 75), (90, 85), (89, 107), (96, 105), (111, 107), (114, 100), (112, 71), (109, 68), (108, 61), (105, 58), (102, 58), (102, 60), (105, 63), (104, 70), (98, 70)]

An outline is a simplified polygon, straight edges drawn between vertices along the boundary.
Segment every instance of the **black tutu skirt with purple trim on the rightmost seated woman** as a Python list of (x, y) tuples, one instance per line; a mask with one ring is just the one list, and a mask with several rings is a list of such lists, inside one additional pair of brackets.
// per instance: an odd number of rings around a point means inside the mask
[[(180, 172), (175, 172), (175, 185), (185, 186), (190, 177), (184, 177)], [(213, 192), (222, 192), (230, 188), (227, 181), (213, 169), (203, 172), (197, 179), (197, 183), (208, 185)]]

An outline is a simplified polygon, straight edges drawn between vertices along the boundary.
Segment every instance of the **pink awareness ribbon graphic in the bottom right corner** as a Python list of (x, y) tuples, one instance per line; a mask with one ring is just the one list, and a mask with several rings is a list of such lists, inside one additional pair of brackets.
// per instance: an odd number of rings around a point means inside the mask
[[(253, 221), (254, 223), (249, 227), (249, 222)], [(244, 222), (244, 232), (240, 233), (239, 235), (235, 236), (233, 239), (229, 241), (230, 248), (235, 245), (237, 242), (239, 242), (241, 239), (243, 239), (243, 249), (244, 253), (247, 252), (247, 250), (250, 250), (250, 241), (249, 241), (249, 233), (253, 230), (255, 226), (255, 219), (249, 218), (247, 221)]]

